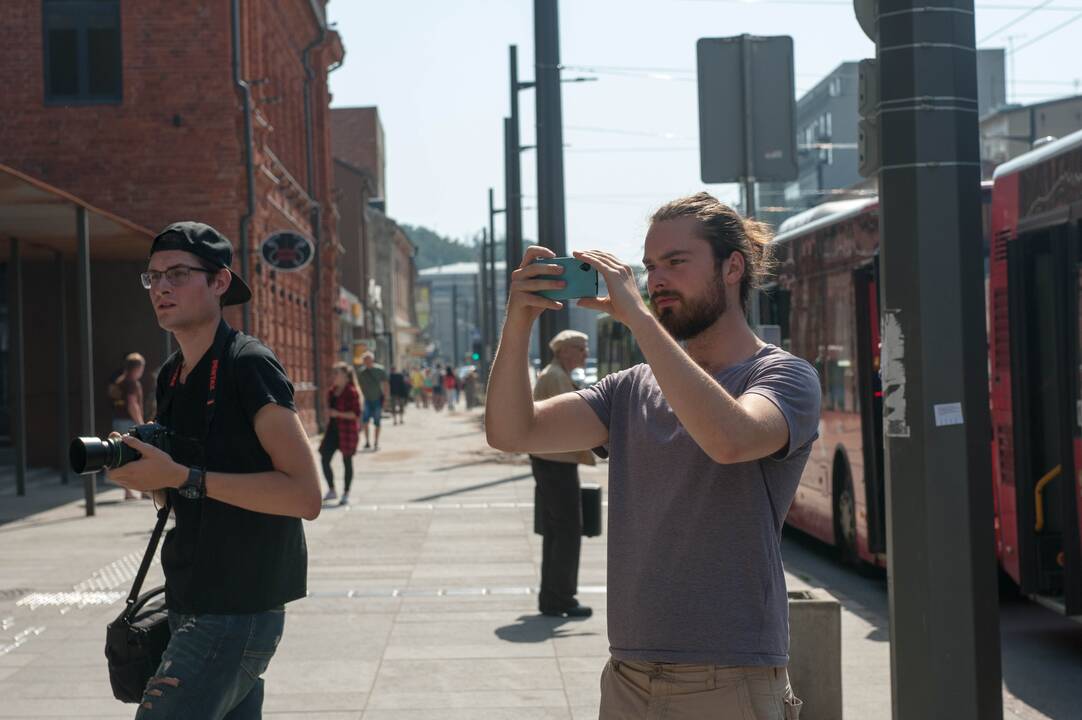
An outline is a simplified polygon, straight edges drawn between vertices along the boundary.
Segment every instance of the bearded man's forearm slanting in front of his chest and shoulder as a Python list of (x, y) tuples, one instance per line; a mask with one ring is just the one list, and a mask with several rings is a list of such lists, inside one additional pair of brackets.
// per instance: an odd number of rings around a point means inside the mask
[(744, 409), (654, 316), (637, 320), (632, 332), (681, 424), (713, 460), (727, 461), (751, 430)]

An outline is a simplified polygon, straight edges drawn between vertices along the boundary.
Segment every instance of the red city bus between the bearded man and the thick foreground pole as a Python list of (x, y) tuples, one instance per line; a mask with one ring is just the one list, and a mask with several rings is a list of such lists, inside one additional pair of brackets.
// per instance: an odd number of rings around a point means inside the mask
[[(981, 197), (987, 257), (990, 183)], [(822, 383), (819, 440), (787, 522), (848, 562), (885, 566), (879, 200), (817, 206), (782, 223), (774, 243), (778, 274), (761, 323), (778, 326), (781, 346), (812, 363)]]

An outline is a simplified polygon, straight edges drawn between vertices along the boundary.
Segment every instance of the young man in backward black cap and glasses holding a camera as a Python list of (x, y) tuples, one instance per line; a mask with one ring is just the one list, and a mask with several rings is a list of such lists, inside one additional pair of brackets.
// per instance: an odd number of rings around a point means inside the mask
[(301, 519), (319, 514), (319, 476), (286, 371), (222, 318), (252, 297), (232, 262), (221, 233), (182, 222), (154, 239), (142, 275), (180, 345), (158, 375), (157, 421), (201, 450), (170, 457), (124, 436), (143, 457), (110, 472), (176, 518), (161, 550), (172, 639), (140, 719), (259, 718), (285, 604), (306, 594)]

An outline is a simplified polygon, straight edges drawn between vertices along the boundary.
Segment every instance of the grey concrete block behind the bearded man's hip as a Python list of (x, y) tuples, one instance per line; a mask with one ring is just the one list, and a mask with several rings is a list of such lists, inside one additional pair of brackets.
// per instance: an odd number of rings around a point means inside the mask
[(842, 720), (842, 606), (826, 590), (789, 593), (789, 681), (801, 720)]

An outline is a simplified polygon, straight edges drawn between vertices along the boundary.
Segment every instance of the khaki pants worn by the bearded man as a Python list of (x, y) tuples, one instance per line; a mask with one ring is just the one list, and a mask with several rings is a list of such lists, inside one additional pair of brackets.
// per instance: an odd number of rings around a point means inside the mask
[(610, 659), (601, 720), (797, 720), (783, 667), (723, 667)]

